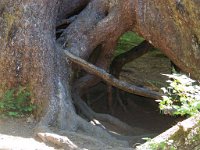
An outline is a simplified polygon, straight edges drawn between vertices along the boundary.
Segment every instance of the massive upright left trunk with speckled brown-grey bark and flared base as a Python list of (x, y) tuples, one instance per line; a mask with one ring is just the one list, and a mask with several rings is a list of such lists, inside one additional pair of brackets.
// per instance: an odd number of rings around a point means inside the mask
[(62, 51), (56, 49), (59, 2), (5, 0), (0, 6), (1, 83), (8, 88), (29, 86), (32, 101), (38, 106), (37, 118), (45, 115), (42, 120), (46, 125), (58, 118), (61, 128), (75, 128), (68, 85), (70, 67)]

